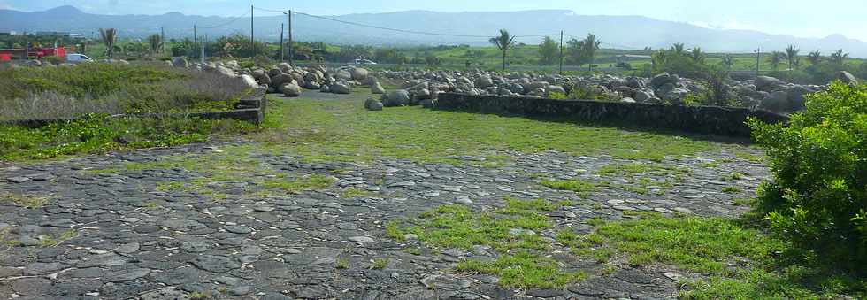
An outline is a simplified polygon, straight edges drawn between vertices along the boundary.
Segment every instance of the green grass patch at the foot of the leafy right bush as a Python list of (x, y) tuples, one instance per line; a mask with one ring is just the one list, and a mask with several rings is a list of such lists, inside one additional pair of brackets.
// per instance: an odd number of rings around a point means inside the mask
[(867, 280), (836, 273), (812, 254), (747, 227), (741, 220), (698, 217), (597, 222), (590, 235), (572, 237), (601, 257), (625, 255), (628, 265), (673, 265), (702, 279), (686, 280), (687, 299), (838, 298), (867, 296)]

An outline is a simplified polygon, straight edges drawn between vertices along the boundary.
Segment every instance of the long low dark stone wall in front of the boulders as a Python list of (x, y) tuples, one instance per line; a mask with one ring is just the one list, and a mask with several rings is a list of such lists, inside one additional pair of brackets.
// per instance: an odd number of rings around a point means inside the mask
[(788, 121), (786, 116), (774, 112), (734, 107), (471, 96), (455, 93), (440, 94), (436, 108), (733, 137), (750, 136), (749, 127), (744, 124), (749, 117), (768, 123)]

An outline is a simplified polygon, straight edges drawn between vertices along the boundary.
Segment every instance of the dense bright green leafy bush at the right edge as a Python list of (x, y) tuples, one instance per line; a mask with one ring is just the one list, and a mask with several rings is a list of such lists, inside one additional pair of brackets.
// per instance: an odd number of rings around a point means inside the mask
[(867, 85), (808, 96), (788, 127), (748, 123), (771, 157), (756, 209), (773, 231), (855, 263), (840, 265), (867, 264)]

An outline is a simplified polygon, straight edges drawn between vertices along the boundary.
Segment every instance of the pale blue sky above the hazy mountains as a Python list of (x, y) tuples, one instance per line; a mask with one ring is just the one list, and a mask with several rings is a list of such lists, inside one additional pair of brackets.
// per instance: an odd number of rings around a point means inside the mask
[[(0, 0), (0, 8), (42, 11), (71, 4), (105, 14), (238, 15), (249, 1), (230, 0)], [(293, 9), (319, 15), (428, 10), (438, 12), (563, 9), (589, 15), (644, 15), (702, 27), (753, 29), (772, 34), (824, 37), (842, 34), (867, 41), (867, 0), (256, 0), (269, 9)]]

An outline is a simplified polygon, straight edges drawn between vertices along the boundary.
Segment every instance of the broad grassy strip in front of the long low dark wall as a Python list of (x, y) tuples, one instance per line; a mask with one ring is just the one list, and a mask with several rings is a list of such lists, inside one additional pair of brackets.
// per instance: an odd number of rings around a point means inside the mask
[(486, 158), (472, 161), (478, 165), (496, 165), (503, 159), (497, 153), (503, 150), (559, 150), (574, 155), (661, 160), (721, 147), (679, 136), (419, 107), (368, 112), (362, 103), (370, 96), (367, 91), (356, 90), (339, 100), (321, 98), (324, 96), (272, 98), (266, 126), (278, 129), (266, 130), (256, 139), (267, 142), (272, 150), (300, 153), (310, 160), (391, 157), (457, 164)]

